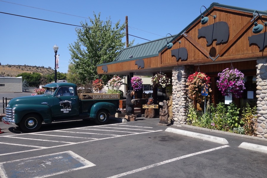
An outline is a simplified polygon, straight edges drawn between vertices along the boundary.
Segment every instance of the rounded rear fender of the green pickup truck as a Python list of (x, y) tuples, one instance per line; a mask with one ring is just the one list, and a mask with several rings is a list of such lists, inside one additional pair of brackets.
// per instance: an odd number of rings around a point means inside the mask
[(91, 107), (90, 117), (96, 118), (96, 114), (100, 109), (107, 109), (110, 115), (114, 115), (116, 113), (115, 104), (109, 102), (97, 102)]

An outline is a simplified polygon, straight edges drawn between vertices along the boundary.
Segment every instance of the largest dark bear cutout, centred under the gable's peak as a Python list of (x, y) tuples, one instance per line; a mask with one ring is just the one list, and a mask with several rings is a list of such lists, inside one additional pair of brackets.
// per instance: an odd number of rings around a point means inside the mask
[(216, 44), (227, 42), (229, 39), (229, 26), (226, 22), (216, 22), (198, 29), (198, 38), (204, 37), (207, 41), (207, 46), (217, 40)]

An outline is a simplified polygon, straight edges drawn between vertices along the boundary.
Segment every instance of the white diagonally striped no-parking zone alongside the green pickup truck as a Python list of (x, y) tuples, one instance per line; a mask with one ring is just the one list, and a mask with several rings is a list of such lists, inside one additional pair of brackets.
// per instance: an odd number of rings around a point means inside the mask
[[(4, 135), (0, 136), (0, 147), (5, 147), (5, 149), (0, 149), (0, 156), (18, 152), (35, 151), (36, 149), (41, 150), (63, 147), (121, 136), (144, 134), (155, 131), (162, 130), (153, 130), (152, 127), (131, 126), (125, 125), (124, 123), (118, 123), (102, 126), (96, 125), (62, 130), (43, 131), (37, 133), (7, 136)], [(9, 147), (12, 147), (12, 149), (9, 149)], [(7, 150), (12, 150), (12, 152), (8, 152)]]

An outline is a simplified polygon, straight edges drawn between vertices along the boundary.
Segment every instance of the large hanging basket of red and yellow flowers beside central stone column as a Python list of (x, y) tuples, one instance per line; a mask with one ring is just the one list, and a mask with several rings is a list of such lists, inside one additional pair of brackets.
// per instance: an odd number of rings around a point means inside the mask
[(198, 102), (202, 102), (205, 93), (212, 92), (210, 89), (210, 77), (205, 73), (195, 72), (194, 74), (189, 75), (187, 82), (187, 95), (190, 99), (195, 99)]

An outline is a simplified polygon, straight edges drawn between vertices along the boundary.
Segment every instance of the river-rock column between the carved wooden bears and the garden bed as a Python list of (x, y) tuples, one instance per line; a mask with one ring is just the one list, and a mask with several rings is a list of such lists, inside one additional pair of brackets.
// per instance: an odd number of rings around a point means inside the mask
[(186, 80), (193, 73), (193, 66), (174, 66), (172, 69), (172, 113), (174, 124), (186, 124), (189, 98)]

